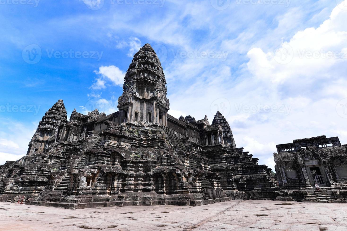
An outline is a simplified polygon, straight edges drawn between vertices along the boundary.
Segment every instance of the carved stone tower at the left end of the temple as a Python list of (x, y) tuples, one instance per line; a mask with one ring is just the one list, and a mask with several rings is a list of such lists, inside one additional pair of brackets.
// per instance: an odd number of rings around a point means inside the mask
[(46, 141), (57, 132), (57, 127), (67, 122), (67, 114), (64, 102), (58, 100), (42, 117), (36, 132), (29, 142), (26, 155), (41, 153), (45, 148)]

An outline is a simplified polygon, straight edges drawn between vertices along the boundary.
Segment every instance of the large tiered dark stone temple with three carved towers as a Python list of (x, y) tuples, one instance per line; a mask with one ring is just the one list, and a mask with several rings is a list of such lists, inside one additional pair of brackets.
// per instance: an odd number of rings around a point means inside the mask
[(74, 110), (67, 121), (63, 101), (54, 104), (27, 155), (0, 166), (2, 200), (25, 195), (30, 204), (70, 209), (200, 205), (275, 186), (271, 169), (236, 147), (220, 112), (211, 124), (168, 113), (163, 69), (149, 44), (124, 81), (119, 111), (109, 115)]

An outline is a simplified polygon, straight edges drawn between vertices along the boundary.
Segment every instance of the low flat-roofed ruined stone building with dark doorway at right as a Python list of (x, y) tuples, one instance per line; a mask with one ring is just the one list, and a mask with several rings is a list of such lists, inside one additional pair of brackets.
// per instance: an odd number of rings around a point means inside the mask
[[(346, 202), (347, 145), (338, 137), (318, 136), (276, 145), (275, 169), (281, 190), (296, 190), (287, 199)], [(322, 189), (315, 190), (316, 185)], [(283, 192), (279, 198), (283, 198)], [(278, 199), (279, 199), (278, 198)]]

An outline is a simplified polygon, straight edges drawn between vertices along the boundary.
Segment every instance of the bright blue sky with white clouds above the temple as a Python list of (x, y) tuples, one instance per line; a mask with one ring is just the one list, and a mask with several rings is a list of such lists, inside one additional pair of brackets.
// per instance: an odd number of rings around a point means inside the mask
[[(117, 111), (134, 53), (150, 43), (169, 113), (212, 122), (273, 168), (276, 144), (347, 143), (347, 1), (1, 0), (0, 164), (24, 156), (56, 101)], [(288, 56), (289, 51), (289, 56)], [(30, 57), (29, 57), (30, 54)], [(345, 102), (346, 101), (346, 102)]]

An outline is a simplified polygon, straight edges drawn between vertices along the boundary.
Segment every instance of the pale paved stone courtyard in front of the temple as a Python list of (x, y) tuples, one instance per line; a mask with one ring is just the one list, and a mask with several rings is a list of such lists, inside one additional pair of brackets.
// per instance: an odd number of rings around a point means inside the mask
[(0, 230), (347, 230), (347, 204), (228, 201), (67, 210), (0, 203)]

